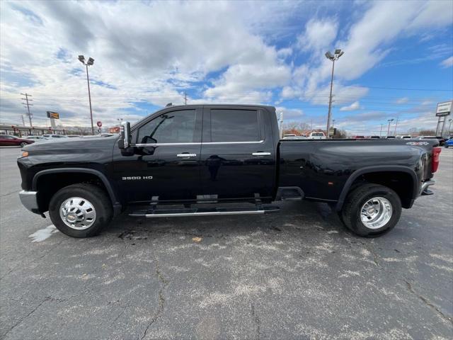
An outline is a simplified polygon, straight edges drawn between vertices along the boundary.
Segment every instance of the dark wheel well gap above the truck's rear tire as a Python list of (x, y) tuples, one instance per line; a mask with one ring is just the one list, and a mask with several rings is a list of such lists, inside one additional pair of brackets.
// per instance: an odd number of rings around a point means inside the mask
[(403, 171), (377, 171), (369, 172), (358, 176), (352, 183), (350, 191), (360, 186), (362, 183), (376, 183), (386, 186), (395, 191), (403, 208), (411, 208), (413, 199), (413, 178), (411, 174)]

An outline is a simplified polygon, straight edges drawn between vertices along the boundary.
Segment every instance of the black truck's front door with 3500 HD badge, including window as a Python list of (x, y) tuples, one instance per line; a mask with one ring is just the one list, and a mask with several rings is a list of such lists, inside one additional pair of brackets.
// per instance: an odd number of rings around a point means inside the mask
[(134, 154), (114, 156), (127, 201), (195, 200), (200, 193), (200, 108), (165, 110), (132, 130)]

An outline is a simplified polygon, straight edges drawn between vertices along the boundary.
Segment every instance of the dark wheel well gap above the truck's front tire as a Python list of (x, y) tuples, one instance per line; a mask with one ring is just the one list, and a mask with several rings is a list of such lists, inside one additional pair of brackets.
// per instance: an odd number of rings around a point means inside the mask
[(49, 210), (50, 199), (57, 191), (59, 191), (59, 189), (76, 183), (94, 184), (106, 193), (108, 192), (103, 181), (101, 181), (101, 179), (94, 174), (71, 172), (44, 174), (40, 176), (36, 182), (36, 191), (38, 191), (38, 207), (40, 212)]

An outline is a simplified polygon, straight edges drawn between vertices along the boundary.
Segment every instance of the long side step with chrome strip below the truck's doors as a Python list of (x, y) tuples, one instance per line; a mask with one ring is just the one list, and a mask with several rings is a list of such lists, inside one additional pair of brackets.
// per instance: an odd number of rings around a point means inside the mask
[(184, 208), (184, 209), (148, 209), (137, 210), (129, 215), (132, 217), (186, 217), (186, 216), (212, 216), (212, 215), (255, 215), (279, 212), (275, 205), (253, 208)]

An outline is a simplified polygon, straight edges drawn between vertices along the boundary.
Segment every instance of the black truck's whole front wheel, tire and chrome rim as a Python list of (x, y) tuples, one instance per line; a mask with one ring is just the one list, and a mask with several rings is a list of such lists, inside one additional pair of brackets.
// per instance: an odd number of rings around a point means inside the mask
[[(66, 218), (63, 216), (65, 213)], [(63, 234), (92, 237), (110, 223), (113, 208), (110, 198), (101, 188), (78, 183), (65, 186), (52, 196), (49, 215), (52, 223)]]

